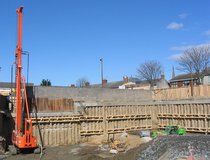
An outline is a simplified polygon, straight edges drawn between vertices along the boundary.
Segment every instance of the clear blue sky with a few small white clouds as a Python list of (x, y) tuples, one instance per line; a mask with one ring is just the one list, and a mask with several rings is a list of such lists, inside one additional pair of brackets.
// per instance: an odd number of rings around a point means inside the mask
[[(37, 85), (50, 79), (67, 86), (81, 77), (100, 83), (100, 58), (109, 82), (136, 76), (147, 60), (160, 61), (170, 79), (184, 49), (210, 43), (208, 0), (1, 0), (0, 81), (10, 82), (20, 5), (29, 81)], [(26, 57), (23, 65), (26, 76)]]

